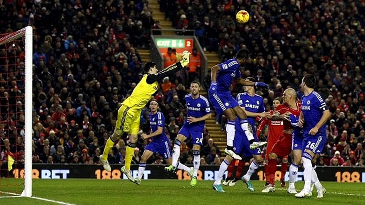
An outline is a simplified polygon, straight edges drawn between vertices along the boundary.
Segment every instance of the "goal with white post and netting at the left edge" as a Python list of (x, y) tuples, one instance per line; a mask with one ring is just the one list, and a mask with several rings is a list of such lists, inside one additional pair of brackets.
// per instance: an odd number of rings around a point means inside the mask
[(32, 195), (32, 32), (0, 34), (0, 197)]

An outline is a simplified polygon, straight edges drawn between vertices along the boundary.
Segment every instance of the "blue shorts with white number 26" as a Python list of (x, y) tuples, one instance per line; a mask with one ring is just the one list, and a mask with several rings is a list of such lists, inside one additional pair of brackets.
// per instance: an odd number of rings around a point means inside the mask
[(311, 150), (314, 154), (321, 154), (327, 142), (326, 132), (317, 132), (316, 135), (304, 135), (303, 150)]

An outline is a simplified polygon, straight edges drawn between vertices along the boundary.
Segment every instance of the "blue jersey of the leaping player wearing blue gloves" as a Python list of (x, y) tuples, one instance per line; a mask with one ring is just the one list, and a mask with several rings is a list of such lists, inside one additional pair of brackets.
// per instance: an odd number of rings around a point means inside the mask
[(219, 64), (217, 73), (217, 91), (229, 91), (234, 78), (240, 78), (240, 66), (235, 58)]

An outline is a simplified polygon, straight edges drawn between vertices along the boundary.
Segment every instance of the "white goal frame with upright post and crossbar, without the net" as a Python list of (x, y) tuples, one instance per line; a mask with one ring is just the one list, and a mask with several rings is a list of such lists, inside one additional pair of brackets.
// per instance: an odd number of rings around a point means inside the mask
[(24, 38), (24, 65), (25, 65), (25, 98), (24, 98), (24, 189), (21, 194), (2, 192), (9, 196), (4, 197), (31, 197), (32, 196), (32, 76), (33, 76), (33, 28), (27, 26), (19, 31), (1, 35), (0, 45)]

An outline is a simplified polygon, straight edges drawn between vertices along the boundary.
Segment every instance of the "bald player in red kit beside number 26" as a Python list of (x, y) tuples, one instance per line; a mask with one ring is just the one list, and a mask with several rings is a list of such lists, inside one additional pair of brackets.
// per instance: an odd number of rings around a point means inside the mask
[(283, 104), (278, 105), (275, 110), (280, 115), (273, 115), (271, 117), (272, 121), (283, 120), (283, 135), (279, 137), (269, 154), (269, 173), (266, 175), (266, 178), (269, 178), (269, 185), (262, 190), (263, 193), (275, 191), (276, 159), (284, 158), (284, 156), (289, 155), (292, 150), (292, 134), (295, 127), (298, 126), (301, 111), (301, 104), (296, 100), (295, 90), (292, 88), (286, 89), (283, 94)]

